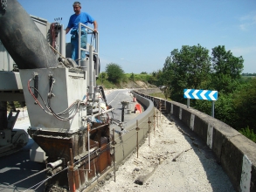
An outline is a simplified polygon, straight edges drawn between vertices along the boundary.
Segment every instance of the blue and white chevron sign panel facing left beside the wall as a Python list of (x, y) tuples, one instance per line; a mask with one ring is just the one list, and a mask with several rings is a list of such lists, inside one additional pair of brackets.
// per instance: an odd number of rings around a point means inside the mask
[(185, 99), (217, 100), (218, 91), (184, 89), (184, 98)]

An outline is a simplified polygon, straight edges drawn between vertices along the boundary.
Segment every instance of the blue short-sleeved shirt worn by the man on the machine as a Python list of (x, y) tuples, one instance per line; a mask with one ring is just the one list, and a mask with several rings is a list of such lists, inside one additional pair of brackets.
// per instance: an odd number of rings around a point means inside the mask
[[(77, 30), (79, 28), (79, 23), (87, 25), (88, 23), (93, 24), (93, 22), (94, 22), (93, 17), (91, 17), (86, 12), (80, 12), (80, 15), (73, 14), (69, 18), (67, 27), (70, 29), (73, 28), (73, 30)], [(82, 28), (84, 28), (84, 27), (82, 26)]]

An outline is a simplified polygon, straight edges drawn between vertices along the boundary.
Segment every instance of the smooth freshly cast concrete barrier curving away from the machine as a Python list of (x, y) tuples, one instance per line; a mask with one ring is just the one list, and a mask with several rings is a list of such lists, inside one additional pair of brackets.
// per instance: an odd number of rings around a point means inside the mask
[[(137, 131), (136, 127), (139, 127), (138, 131), (138, 143), (140, 144), (144, 141), (144, 138), (149, 132), (149, 123), (150, 120), (153, 122), (154, 115), (154, 105), (153, 102), (149, 99), (142, 97), (139, 94), (134, 93), (137, 101), (139, 101), (142, 106), (144, 106), (145, 111), (135, 118), (135, 120), (128, 121), (125, 130), (128, 131), (126, 134), (114, 134), (115, 145), (115, 161), (117, 164), (120, 164), (121, 161), (125, 160), (129, 154), (131, 154), (137, 146)], [(136, 122), (138, 120), (138, 126)], [(152, 125), (152, 123), (151, 123)], [(140, 153), (140, 152), (139, 152)]]

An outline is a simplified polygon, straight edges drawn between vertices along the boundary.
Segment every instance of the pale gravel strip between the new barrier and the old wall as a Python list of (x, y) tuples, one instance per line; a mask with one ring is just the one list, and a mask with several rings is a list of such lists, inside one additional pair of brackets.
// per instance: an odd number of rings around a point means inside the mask
[[(155, 135), (93, 189), (101, 191), (234, 191), (211, 150), (190, 130), (162, 116)], [(150, 141), (150, 147), (149, 147)]]

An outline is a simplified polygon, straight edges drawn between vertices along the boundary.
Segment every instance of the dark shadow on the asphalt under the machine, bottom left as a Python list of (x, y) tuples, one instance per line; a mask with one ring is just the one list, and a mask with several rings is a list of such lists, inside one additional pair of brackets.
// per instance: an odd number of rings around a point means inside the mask
[[(24, 191), (45, 179), (45, 173), (40, 173), (24, 182), (19, 182), (45, 168), (44, 163), (30, 161), (30, 148), (33, 142), (30, 139), (28, 144), (17, 153), (0, 158), (0, 191)], [(16, 182), (19, 183), (12, 185)], [(44, 188), (43, 184), (38, 189), (32, 191), (41, 192), (44, 191)]]

